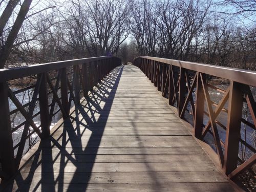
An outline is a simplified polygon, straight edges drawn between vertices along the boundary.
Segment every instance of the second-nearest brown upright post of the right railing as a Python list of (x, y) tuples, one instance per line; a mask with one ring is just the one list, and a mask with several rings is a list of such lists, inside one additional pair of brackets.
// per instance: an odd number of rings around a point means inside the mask
[[(204, 74), (202, 77), (205, 78)], [(195, 110), (195, 121), (194, 130), (195, 137), (201, 138), (203, 132), (203, 119), (204, 119), (204, 90), (203, 84), (200, 77), (200, 73), (197, 72), (197, 96), (196, 96), (196, 110)]]

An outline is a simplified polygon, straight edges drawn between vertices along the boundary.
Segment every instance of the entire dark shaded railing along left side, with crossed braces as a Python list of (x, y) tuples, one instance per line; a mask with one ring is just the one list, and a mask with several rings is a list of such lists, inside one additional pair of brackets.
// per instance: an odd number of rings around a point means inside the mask
[[(88, 96), (115, 67), (121, 59), (114, 56), (82, 58), (0, 70), (0, 178), (10, 178), (19, 168), (24, 155), (25, 145), (32, 134), (41, 139), (50, 136), (53, 116), (58, 112), (63, 118), (69, 117), (71, 103), (80, 102), (80, 94)], [(35, 76), (33, 85), (13, 91), (8, 81)], [(16, 96), (32, 90), (32, 98), (22, 103)], [(48, 100), (51, 103), (48, 103)], [(10, 101), (16, 109), (10, 111)], [(39, 111), (35, 111), (39, 103)], [(59, 109), (55, 111), (55, 105)], [(11, 127), (11, 116), (19, 112), (25, 121)], [(39, 118), (40, 115), (40, 118)], [(34, 118), (39, 118), (36, 125)], [(13, 144), (12, 133), (23, 128), (20, 141)], [(32, 129), (32, 131), (31, 131)], [(28, 150), (28, 149), (26, 149)], [(14, 154), (15, 151), (15, 154)]]

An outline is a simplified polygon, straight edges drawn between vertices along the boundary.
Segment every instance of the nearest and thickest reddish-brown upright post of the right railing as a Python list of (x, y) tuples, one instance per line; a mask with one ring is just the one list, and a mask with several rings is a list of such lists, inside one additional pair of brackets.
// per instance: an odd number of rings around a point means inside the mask
[(243, 88), (238, 82), (230, 82), (228, 119), (223, 170), (226, 175), (237, 168), (241, 118), (243, 111)]

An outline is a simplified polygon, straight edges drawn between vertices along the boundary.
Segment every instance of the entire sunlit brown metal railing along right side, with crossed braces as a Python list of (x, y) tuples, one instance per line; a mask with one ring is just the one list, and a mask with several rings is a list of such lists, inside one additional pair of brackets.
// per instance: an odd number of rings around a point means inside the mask
[[(242, 123), (256, 130), (256, 102), (250, 87), (256, 87), (255, 71), (148, 56), (135, 58), (133, 64), (168, 98), (169, 104), (177, 108), (179, 117), (193, 126), (195, 137), (204, 140), (206, 134), (210, 134), (214, 138), (216, 148), (212, 152), (218, 155), (221, 168), (229, 178), (233, 179), (256, 163), (256, 149), (240, 135)], [(229, 80), (228, 88), (223, 90), (208, 84), (206, 76)], [(219, 103), (210, 99), (209, 88), (223, 94)], [(251, 120), (244, 117), (245, 104)], [(221, 112), (227, 114), (225, 125), (217, 120)], [(208, 119), (204, 119), (204, 115)], [(226, 133), (224, 141), (220, 138), (221, 129)], [(239, 157), (239, 145), (251, 152), (249, 159)]]

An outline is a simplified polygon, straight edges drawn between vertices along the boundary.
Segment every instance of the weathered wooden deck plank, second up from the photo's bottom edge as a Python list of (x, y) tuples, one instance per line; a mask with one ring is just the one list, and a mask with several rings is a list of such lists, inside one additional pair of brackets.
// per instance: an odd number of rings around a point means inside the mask
[[(219, 175), (216, 172), (130, 172), (129, 174), (123, 172), (108, 172), (108, 173), (65, 173), (63, 176), (59, 176), (58, 173), (43, 173), (44, 178), (41, 180), (41, 173), (35, 173), (30, 176), (29, 173), (22, 172), (21, 177), (26, 178), (24, 184), (53, 184), (54, 180), (60, 180), (61, 183), (198, 183), (209, 182), (214, 183), (226, 183), (227, 179)], [(53, 175), (54, 180), (51, 180)], [(73, 178), (75, 181), (72, 181)], [(84, 179), (90, 177), (90, 180)], [(15, 182), (22, 182), (22, 178), (19, 178)]]

